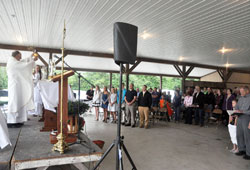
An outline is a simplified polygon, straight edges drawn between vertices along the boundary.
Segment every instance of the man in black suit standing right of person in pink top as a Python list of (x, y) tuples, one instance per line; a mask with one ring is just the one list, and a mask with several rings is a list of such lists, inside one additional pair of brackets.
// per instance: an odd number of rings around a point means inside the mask
[(193, 97), (193, 105), (195, 105), (195, 124), (200, 126), (204, 126), (204, 93), (201, 92), (201, 88), (199, 86), (195, 86), (196, 93)]

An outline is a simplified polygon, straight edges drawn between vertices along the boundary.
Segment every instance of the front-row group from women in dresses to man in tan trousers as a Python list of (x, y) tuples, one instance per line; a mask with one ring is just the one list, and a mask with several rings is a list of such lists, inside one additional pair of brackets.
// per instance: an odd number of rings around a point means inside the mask
[[(92, 101), (92, 106), (95, 108), (96, 121), (99, 121), (99, 107), (103, 109), (103, 122), (107, 123), (108, 112), (112, 123), (117, 121), (117, 112), (119, 106), (119, 91), (112, 87), (110, 92), (105, 86), (101, 92), (97, 85), (95, 91), (91, 87), (87, 91), (87, 99)], [(124, 88), (122, 84), (121, 109), (122, 109), (122, 124), (125, 126), (136, 127), (136, 110), (138, 108), (140, 116), (140, 127), (149, 127), (149, 109), (152, 105), (152, 95), (147, 91), (147, 86), (142, 87), (140, 92), (137, 88), (134, 89), (134, 84), (129, 85), (129, 90)], [(154, 100), (153, 100), (154, 101)]]

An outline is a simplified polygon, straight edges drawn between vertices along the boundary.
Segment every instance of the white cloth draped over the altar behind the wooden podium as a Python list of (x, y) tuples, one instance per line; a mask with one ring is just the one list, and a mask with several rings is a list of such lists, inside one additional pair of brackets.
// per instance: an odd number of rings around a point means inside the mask
[[(58, 82), (52, 82), (48, 80), (41, 80), (37, 83), (37, 87), (40, 90), (42, 102), (46, 110), (56, 112), (55, 107), (58, 106), (59, 101), (59, 87)], [(70, 86), (68, 86), (68, 99), (75, 101), (74, 94)]]

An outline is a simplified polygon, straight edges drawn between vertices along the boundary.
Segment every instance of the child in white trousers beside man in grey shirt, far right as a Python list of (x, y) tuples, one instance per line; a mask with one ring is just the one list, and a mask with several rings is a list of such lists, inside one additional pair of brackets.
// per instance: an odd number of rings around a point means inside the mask
[[(236, 100), (232, 101), (232, 106), (233, 110), (235, 109), (237, 102)], [(229, 124), (228, 124), (228, 131), (231, 137), (231, 141), (233, 143), (233, 149), (230, 150), (232, 153), (237, 153), (238, 152), (238, 147), (237, 147), (237, 139), (236, 139), (236, 126), (237, 126), (237, 116), (229, 116)]]

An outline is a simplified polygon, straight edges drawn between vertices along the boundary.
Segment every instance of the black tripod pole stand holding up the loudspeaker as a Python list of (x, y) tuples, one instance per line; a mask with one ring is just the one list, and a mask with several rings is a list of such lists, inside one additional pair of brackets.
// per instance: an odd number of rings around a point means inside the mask
[(114, 142), (110, 145), (108, 150), (103, 154), (102, 158), (93, 168), (96, 170), (105, 157), (110, 153), (110, 151), (116, 147), (116, 170), (123, 170), (123, 159), (122, 159), (122, 150), (126, 154), (130, 164), (132, 165), (132, 170), (137, 170), (132, 158), (130, 157), (127, 148), (124, 145), (124, 136), (121, 136), (121, 99), (122, 99), (122, 67), (123, 64), (120, 63), (120, 85), (119, 85), (119, 110), (118, 110), (118, 123), (117, 123), (117, 137)]

